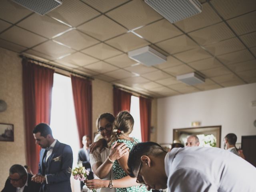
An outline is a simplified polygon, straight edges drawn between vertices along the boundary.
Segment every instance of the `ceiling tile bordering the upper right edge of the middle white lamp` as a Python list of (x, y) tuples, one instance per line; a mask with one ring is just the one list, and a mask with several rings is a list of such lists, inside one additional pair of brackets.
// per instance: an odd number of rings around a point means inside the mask
[(156, 44), (156, 46), (162, 48), (170, 54), (198, 48), (198, 45), (186, 35), (159, 42)]

